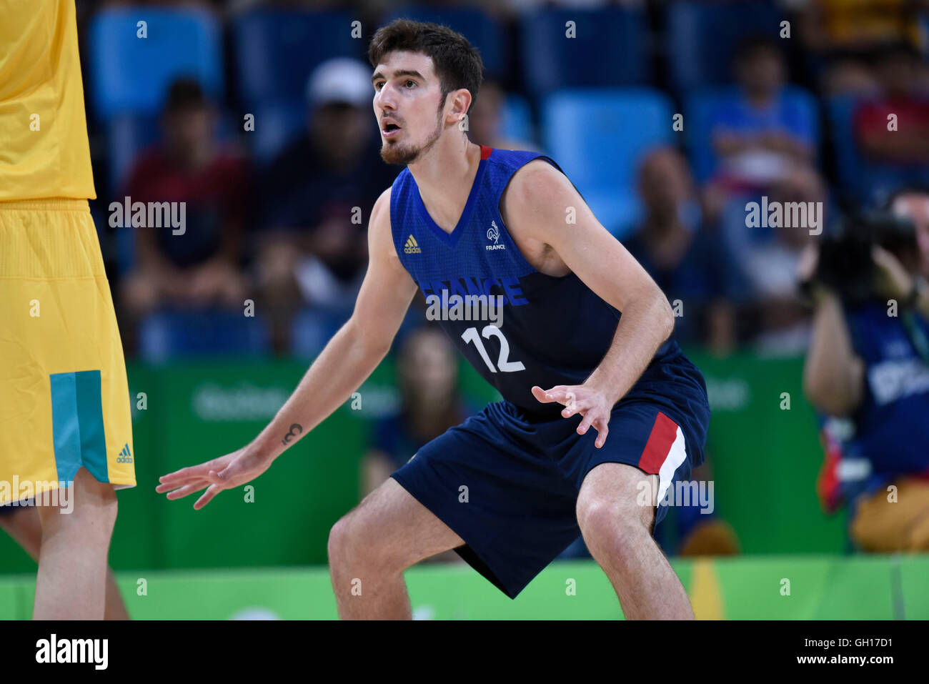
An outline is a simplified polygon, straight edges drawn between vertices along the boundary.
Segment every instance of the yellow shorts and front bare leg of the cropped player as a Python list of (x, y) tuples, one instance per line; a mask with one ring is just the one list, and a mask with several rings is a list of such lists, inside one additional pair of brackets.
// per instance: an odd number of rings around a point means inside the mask
[(0, 480), (32, 483), (36, 498), (72, 487), (71, 512), (39, 506), (33, 616), (102, 619), (113, 490), (136, 477), (122, 342), (86, 201), (0, 203), (0, 254)]

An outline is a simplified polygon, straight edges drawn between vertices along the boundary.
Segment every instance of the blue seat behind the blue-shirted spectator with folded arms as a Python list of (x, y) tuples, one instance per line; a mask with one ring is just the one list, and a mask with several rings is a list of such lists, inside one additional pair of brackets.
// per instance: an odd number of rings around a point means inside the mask
[[(738, 90), (733, 86), (711, 88), (695, 91), (687, 98), (687, 108), (684, 111), (684, 130), (687, 138), (687, 150), (694, 178), (699, 183), (708, 180), (716, 166), (716, 155), (713, 151), (713, 131), (711, 130), (711, 117), (717, 108), (726, 101), (737, 99)], [(795, 85), (784, 88), (782, 97), (789, 106), (798, 109), (805, 121), (816, 131), (814, 145), (819, 147), (819, 110), (817, 99)]]

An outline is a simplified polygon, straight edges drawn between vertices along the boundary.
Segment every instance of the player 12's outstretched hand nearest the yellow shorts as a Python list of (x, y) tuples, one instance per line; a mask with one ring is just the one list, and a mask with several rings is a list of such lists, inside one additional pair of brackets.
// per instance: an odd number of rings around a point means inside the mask
[(163, 475), (158, 479), (161, 484), (155, 487), (155, 492), (167, 492), (169, 499), (181, 499), (205, 488), (206, 492), (193, 505), (195, 510), (200, 510), (224, 489), (255, 480), (270, 467), (272, 460), (255, 454), (254, 449), (244, 446), (238, 451), (219, 456), (199, 466), (183, 467)]

